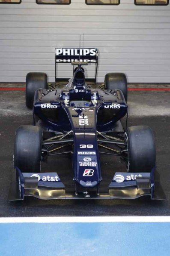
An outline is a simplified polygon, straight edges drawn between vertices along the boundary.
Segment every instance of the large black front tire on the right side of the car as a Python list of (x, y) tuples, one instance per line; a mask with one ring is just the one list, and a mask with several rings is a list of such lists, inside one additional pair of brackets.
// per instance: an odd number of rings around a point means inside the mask
[(125, 133), (128, 149), (126, 168), (132, 173), (151, 172), (155, 167), (155, 139), (148, 126), (131, 126)]

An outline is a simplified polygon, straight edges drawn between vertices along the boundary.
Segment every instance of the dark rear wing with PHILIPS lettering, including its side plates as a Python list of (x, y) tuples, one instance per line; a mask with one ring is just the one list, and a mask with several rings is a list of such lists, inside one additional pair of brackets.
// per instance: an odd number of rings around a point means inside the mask
[[(57, 64), (72, 63), (74, 71), (74, 62), (95, 64), (95, 77), (91, 80), (96, 83), (98, 69), (98, 49), (97, 48), (55, 48), (55, 81), (68, 80), (66, 78), (57, 78)], [(76, 63), (75, 63), (76, 65)]]

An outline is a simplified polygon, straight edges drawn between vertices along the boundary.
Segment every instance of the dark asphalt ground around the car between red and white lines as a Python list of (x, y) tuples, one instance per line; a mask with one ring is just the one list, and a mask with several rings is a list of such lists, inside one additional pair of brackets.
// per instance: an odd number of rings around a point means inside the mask
[[(33, 197), (22, 202), (7, 200), (12, 172), (15, 130), (32, 124), (32, 111), (24, 104), (24, 91), (0, 91), (0, 216), (125, 216), (170, 215), (170, 91), (129, 91), (128, 126), (148, 125), (155, 135), (157, 170), (161, 174), (167, 200), (38, 200)], [(60, 167), (60, 168), (59, 168)], [(105, 176), (125, 171), (119, 157), (101, 157)], [(68, 183), (71, 176), (70, 159), (52, 158), (42, 170), (55, 171)], [(62, 169), (62, 172), (60, 171)], [(104, 176), (103, 175), (103, 176)]]

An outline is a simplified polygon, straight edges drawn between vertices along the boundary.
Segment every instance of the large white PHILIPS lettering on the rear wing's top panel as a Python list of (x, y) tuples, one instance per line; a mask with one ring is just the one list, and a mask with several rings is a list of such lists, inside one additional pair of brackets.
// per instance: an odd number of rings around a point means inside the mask
[(56, 56), (96, 56), (96, 49), (56, 48)]

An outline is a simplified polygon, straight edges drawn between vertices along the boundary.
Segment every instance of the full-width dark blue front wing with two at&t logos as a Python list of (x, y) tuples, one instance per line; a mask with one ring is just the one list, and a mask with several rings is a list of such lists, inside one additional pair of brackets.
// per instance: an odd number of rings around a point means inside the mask
[(22, 173), (19, 168), (12, 173), (9, 200), (24, 200), (25, 196), (39, 199), (135, 199), (149, 196), (151, 199), (164, 200), (165, 194), (159, 182), (159, 174), (115, 173), (108, 186), (108, 193), (82, 191), (67, 193), (57, 173)]

